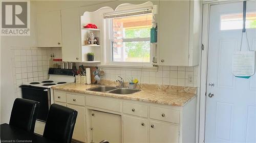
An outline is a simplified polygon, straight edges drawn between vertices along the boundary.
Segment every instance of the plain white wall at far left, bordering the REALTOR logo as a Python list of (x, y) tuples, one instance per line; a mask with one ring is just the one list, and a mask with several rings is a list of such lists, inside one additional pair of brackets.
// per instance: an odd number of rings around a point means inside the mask
[(35, 4), (30, 4), (30, 36), (1, 36), (1, 124), (9, 123), (14, 99), (17, 97), (13, 89), (12, 50), (36, 45)]

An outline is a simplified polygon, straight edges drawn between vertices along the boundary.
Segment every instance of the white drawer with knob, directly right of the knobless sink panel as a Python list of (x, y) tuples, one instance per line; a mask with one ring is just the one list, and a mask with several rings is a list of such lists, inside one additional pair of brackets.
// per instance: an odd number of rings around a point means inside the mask
[(123, 102), (123, 113), (147, 118), (147, 106)]

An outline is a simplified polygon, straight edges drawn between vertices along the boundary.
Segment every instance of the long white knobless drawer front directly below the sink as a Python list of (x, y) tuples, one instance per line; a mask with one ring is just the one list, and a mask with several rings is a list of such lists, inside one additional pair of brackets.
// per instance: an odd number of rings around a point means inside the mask
[(114, 100), (86, 97), (86, 105), (106, 110), (121, 112), (121, 103)]

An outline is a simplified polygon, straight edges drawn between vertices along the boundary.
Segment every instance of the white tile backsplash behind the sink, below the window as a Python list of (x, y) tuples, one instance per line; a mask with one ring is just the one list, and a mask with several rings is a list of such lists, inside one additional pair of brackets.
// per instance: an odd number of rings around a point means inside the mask
[[(105, 71), (103, 79), (116, 80), (118, 76), (128, 81), (127, 77), (137, 78), (141, 83), (179, 85), (187, 87), (197, 87), (197, 69), (185, 66), (159, 66), (157, 71), (142, 71), (142, 69), (125, 70), (102, 68)], [(193, 83), (188, 83), (188, 75), (193, 75)]]

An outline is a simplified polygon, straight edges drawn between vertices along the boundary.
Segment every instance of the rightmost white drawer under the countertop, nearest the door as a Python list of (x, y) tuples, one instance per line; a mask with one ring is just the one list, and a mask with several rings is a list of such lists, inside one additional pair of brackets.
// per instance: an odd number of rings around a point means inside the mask
[(179, 124), (180, 111), (150, 106), (150, 118)]

